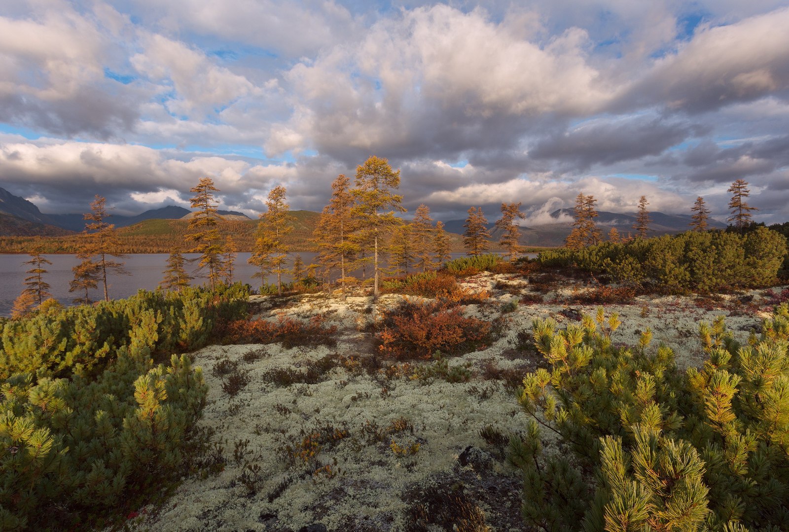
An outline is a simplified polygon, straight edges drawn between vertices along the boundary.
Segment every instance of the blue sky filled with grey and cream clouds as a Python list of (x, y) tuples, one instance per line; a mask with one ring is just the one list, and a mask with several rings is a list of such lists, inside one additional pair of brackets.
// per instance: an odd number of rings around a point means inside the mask
[(320, 211), (370, 155), (409, 214), (522, 202), (789, 220), (789, 2), (0, 2), (0, 187), (134, 215), (210, 176)]

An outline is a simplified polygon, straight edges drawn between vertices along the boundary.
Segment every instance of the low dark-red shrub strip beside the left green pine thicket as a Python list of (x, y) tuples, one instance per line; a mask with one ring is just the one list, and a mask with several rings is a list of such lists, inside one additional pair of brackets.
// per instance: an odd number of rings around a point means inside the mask
[(319, 346), (333, 347), (337, 344), (332, 325), (325, 327), (323, 317), (313, 316), (308, 323), (288, 317), (276, 321), (235, 320), (222, 325), (221, 336), (224, 343), (276, 343), (282, 347)]

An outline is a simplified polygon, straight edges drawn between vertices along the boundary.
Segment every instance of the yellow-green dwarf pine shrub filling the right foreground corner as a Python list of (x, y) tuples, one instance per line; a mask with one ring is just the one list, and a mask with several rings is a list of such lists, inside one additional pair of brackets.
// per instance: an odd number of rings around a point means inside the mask
[[(740, 345), (702, 324), (707, 360), (680, 373), (667, 347), (611, 342), (615, 316), (559, 330), (535, 320), (548, 368), (519, 398), (510, 440), (522, 515), (540, 530), (789, 530), (789, 305)], [(559, 435), (546, 452), (540, 429)]]

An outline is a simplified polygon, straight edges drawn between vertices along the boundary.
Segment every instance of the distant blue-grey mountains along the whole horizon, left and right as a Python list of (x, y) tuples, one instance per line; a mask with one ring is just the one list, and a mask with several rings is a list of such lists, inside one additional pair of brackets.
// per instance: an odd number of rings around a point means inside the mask
[[(250, 220), (249, 216), (234, 211), (219, 211), (225, 219), (231, 220)], [(314, 213), (317, 215), (317, 213)], [(600, 211), (595, 222), (600, 227), (600, 232), (605, 236), (611, 227), (615, 227), (619, 234), (626, 236), (633, 232), (633, 224), (636, 221), (636, 213), (606, 212)], [(168, 205), (163, 208), (151, 209), (136, 216), (113, 215), (110, 219), (115, 227), (129, 227), (136, 223), (151, 219), (189, 219), (193, 212), (187, 208), (176, 205)], [(650, 212), (652, 219), (649, 224), (650, 234), (672, 234), (688, 230), (691, 218), (690, 215), (671, 215), (662, 212)], [(572, 209), (563, 208), (551, 213), (551, 218), (555, 222), (540, 223), (533, 226), (521, 227), (522, 245), (563, 245), (564, 239), (570, 234), (573, 218)], [(712, 228), (724, 229), (724, 223), (709, 219), (709, 226)], [(465, 230), (464, 219), (449, 220), (444, 227), (447, 232), (462, 234)], [(81, 214), (43, 214), (39, 208), (30, 201), (22, 197), (14, 196), (7, 190), (0, 188), (0, 236), (60, 236), (70, 234), (73, 231), (84, 230), (85, 221)], [(500, 231), (495, 228), (495, 224), (488, 223), (488, 230), (491, 232), (491, 240), (499, 240)]]

